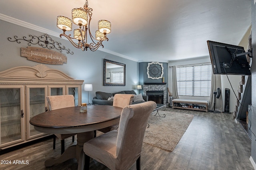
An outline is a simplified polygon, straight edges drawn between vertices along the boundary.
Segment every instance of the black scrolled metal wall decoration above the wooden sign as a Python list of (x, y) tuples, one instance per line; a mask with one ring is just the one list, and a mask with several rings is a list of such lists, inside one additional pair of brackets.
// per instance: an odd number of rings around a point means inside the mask
[(27, 41), (28, 45), (31, 46), (31, 44), (38, 44), (43, 48), (48, 48), (48, 49), (57, 49), (60, 50), (60, 52), (62, 53), (62, 50), (66, 50), (67, 54), (74, 54), (74, 52), (70, 52), (70, 49), (66, 49), (66, 47), (61, 46), (61, 43), (58, 43), (54, 40), (52, 40), (52, 38), (48, 35), (48, 34), (44, 34), (40, 37), (37, 37), (35, 35), (29, 35), (28, 37), (23, 37), (18, 39), (18, 36), (14, 36), (14, 39), (12, 39), (11, 37), (8, 37), (8, 40), (11, 42), (17, 42), (20, 43), (21, 40)]

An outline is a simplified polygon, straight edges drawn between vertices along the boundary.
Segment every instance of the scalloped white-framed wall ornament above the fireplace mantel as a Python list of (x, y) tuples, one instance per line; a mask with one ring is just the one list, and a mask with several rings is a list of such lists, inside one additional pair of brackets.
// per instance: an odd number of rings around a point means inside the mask
[(151, 78), (151, 79), (162, 78), (164, 74), (163, 64), (158, 62), (148, 63), (147, 74), (148, 74), (148, 78)]

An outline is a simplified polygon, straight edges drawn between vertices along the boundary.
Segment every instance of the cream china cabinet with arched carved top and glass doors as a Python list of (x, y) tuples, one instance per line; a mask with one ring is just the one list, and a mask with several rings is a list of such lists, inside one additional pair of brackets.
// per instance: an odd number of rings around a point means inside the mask
[(46, 96), (72, 94), (79, 106), (83, 82), (44, 64), (0, 72), (0, 150), (49, 135), (36, 131), (30, 118), (47, 111)]

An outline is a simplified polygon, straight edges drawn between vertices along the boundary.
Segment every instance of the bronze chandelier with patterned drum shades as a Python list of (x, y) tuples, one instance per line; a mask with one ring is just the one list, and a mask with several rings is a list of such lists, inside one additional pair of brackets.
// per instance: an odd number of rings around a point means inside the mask
[[(88, 7), (88, 1), (86, 0), (84, 8), (74, 8), (72, 10), (72, 20), (65, 16), (57, 17), (57, 27), (63, 31), (60, 37), (66, 37), (74, 47), (82, 49), (82, 51), (87, 51), (88, 48), (91, 51), (96, 51), (100, 46), (103, 48), (102, 42), (105, 40), (108, 41), (107, 34), (111, 32), (111, 23), (107, 20), (98, 21), (98, 30), (95, 31), (94, 38), (90, 31), (91, 19), (92, 8)], [(78, 29), (74, 29), (74, 37), (71, 37), (71, 34), (65, 34), (66, 31), (72, 31), (72, 22), (79, 26)], [(92, 41), (90, 44), (87, 42), (89, 36)]]

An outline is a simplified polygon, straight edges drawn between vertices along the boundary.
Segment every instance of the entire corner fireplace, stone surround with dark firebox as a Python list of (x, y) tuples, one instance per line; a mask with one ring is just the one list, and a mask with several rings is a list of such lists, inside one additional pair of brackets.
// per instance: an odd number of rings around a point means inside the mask
[(166, 104), (168, 102), (166, 98), (166, 83), (144, 83), (143, 94), (148, 96), (148, 100), (154, 101), (157, 104)]

